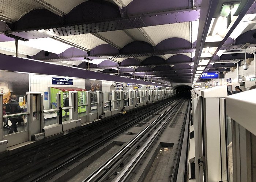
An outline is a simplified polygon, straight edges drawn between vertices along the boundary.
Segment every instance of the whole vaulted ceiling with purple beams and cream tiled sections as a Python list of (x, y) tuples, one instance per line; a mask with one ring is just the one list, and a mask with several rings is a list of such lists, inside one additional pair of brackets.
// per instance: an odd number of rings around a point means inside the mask
[[(14, 53), (16, 38), (22, 57), (154, 82), (192, 83), (199, 78), (198, 67), (224, 72), (233, 63), (214, 63), (242, 60), (240, 54), (223, 52), (248, 41), (256, 50), (256, 4), (241, 0), (230, 27), (217, 31), (215, 24), (227, 21), (218, 18), (226, 1), (212, 3), (0, 0), (0, 53)], [(233, 27), (239, 18), (239, 26)]]

